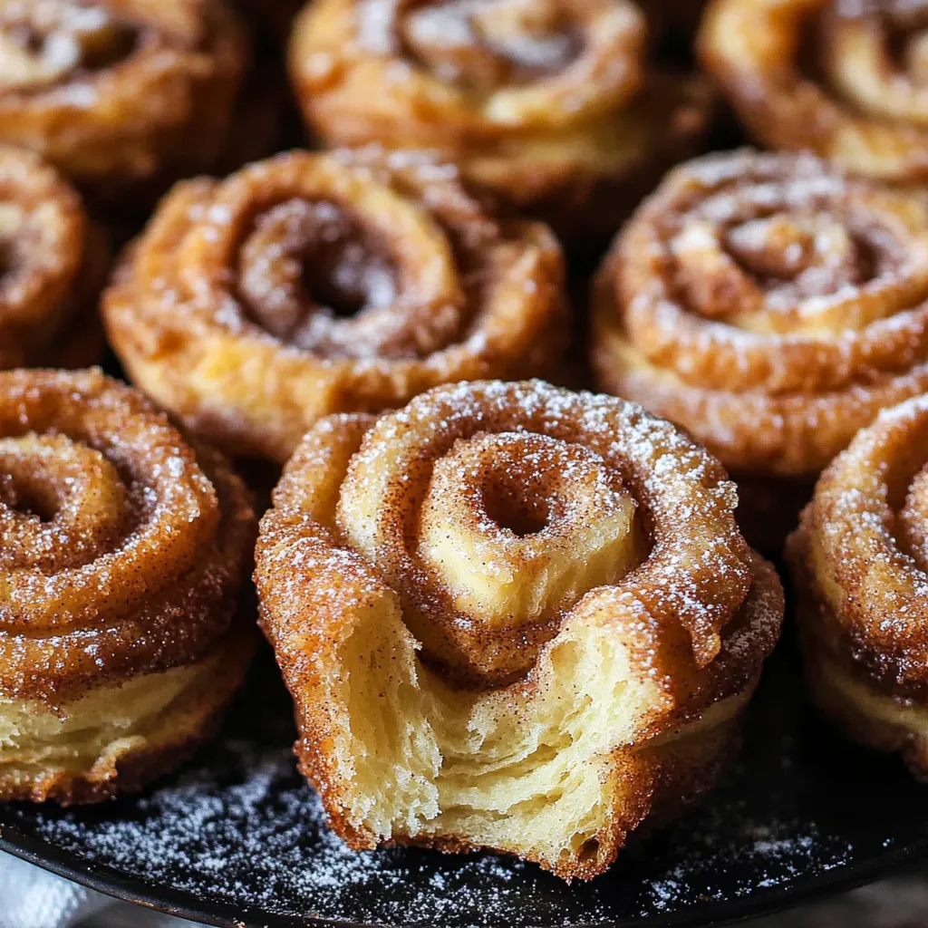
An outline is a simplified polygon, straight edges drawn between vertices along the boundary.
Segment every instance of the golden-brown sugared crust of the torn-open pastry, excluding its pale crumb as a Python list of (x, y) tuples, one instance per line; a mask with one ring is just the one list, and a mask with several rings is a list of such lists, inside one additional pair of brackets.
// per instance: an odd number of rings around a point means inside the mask
[[(484, 455), (487, 447), (493, 454)], [(504, 478), (513, 483), (500, 492), (495, 481)], [(599, 574), (589, 539), (620, 524), (625, 498), (634, 522), (621, 523), (621, 544), (609, 555), (618, 563), (630, 545), (632, 560)], [(501, 500), (508, 509), (497, 507)], [(274, 502), (256, 555), (262, 627), (296, 702), (300, 767), (332, 827), (354, 847), (379, 838), (353, 812), (357, 786), (338, 747), (352, 716), (331, 681), (343, 676), (346, 643), (367, 616), (406, 624), (421, 649), (423, 690), (466, 684), (454, 690), (462, 702), (496, 700), (520, 718), (547, 698), (554, 662), (566, 660), (559, 649), (579, 648), (587, 633), (621, 642), (633, 673), (656, 686), (643, 728), (633, 741), (612, 742), (601, 760), (609, 808), (576, 853), (552, 859), (454, 829), (392, 834), (449, 851), (492, 844), (565, 878), (602, 872), (641, 821), (708, 788), (779, 635), (779, 580), (741, 539), (724, 470), (669, 424), (611, 397), (539, 381), (471, 383), (423, 394), (379, 420), (331, 417), (290, 459)], [(569, 544), (560, 544), (562, 535)], [(450, 549), (435, 547), (443, 536)], [(543, 555), (538, 542), (549, 546)], [(578, 549), (581, 586), (556, 583), (563, 559)], [(476, 593), (494, 585), (499, 568), (531, 595), (513, 600), (514, 611), (505, 598), (502, 611), (474, 611), (453, 573), (460, 551)], [(538, 557), (547, 557), (547, 586), (535, 584)], [(552, 584), (558, 596), (545, 600)], [(395, 649), (384, 653), (402, 660)], [(384, 660), (378, 655), (372, 670)], [(432, 675), (445, 682), (430, 683)], [(611, 683), (591, 686), (606, 693)], [(376, 724), (354, 717), (353, 726)]]

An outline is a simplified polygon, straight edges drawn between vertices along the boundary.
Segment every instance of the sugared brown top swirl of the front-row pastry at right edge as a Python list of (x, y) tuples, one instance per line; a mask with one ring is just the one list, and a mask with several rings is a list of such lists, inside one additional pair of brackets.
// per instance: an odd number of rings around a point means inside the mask
[(928, 695), (928, 400), (884, 410), (825, 470), (790, 539), (804, 631), (881, 689)]

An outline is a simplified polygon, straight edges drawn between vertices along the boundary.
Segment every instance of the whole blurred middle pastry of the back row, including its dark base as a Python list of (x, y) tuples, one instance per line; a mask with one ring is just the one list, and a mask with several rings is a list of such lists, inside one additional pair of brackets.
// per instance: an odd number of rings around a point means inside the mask
[(437, 148), (564, 234), (611, 234), (709, 122), (705, 82), (646, 53), (631, 0), (321, 0), (290, 73), (330, 145)]

